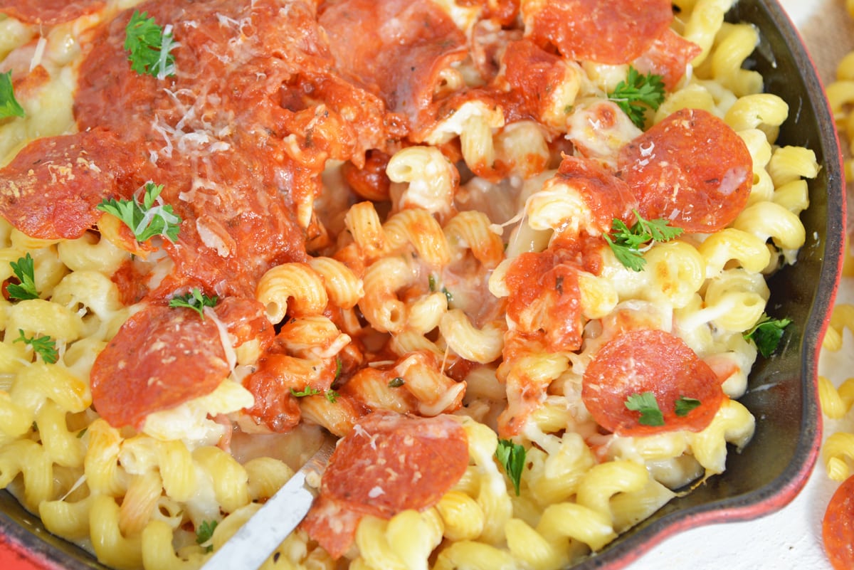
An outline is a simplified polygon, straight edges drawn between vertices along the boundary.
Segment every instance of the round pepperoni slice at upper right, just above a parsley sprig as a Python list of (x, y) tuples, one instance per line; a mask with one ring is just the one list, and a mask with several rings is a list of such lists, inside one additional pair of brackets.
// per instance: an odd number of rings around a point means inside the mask
[(681, 109), (625, 145), (617, 159), (640, 215), (688, 232), (730, 224), (747, 203), (753, 160), (729, 125), (701, 109)]

